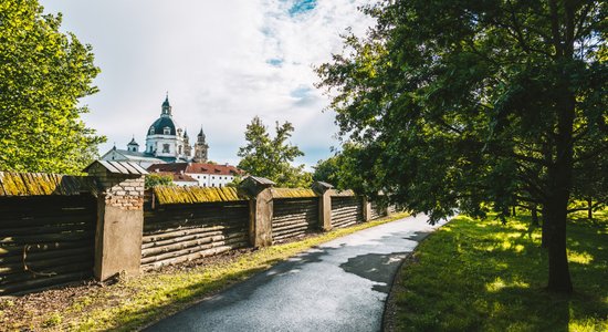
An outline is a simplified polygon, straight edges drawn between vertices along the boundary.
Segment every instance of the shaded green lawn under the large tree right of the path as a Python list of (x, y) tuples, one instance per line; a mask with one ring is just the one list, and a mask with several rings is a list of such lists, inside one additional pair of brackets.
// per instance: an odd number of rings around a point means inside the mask
[(530, 217), (454, 218), (394, 287), (396, 331), (608, 331), (608, 210), (568, 224), (575, 292), (547, 292), (547, 255)]

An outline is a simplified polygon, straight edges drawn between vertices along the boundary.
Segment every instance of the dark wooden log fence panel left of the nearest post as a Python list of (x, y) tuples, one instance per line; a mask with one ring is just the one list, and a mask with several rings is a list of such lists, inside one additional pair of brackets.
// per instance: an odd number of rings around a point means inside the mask
[(93, 276), (91, 195), (0, 197), (0, 295)]

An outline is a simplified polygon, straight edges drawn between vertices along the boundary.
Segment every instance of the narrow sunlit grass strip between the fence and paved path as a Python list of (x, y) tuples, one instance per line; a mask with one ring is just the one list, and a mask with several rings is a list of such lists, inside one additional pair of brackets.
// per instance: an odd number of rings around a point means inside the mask
[[(191, 269), (168, 269), (126, 278), (105, 288), (81, 290), (67, 308), (32, 313), (21, 319), (22, 321), (11, 322), (8, 326), (14, 330), (35, 331), (138, 330), (308, 248), (406, 216), (407, 214), (394, 215), (300, 241), (244, 252)], [(52, 294), (46, 298), (52, 298)], [(36, 308), (35, 304), (31, 307)], [(31, 318), (36, 315), (36, 322), (32, 323)]]

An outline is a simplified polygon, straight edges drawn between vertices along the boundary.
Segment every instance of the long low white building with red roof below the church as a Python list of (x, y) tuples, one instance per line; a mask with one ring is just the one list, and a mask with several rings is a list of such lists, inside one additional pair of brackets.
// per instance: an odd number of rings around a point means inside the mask
[(201, 187), (226, 187), (235, 176), (243, 175), (241, 169), (228, 164), (206, 163), (155, 164), (148, 167), (148, 172), (164, 175), (185, 175), (197, 180)]

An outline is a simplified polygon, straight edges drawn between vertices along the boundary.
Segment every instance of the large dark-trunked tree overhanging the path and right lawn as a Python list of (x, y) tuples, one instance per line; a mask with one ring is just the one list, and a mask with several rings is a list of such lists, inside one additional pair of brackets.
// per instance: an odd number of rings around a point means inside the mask
[(355, 164), (364, 190), (381, 189), (431, 221), (539, 206), (548, 289), (572, 292), (574, 165), (608, 151), (607, 11), (575, 0), (367, 8), (375, 29), (347, 35), (347, 52), (318, 68), (319, 85), (336, 90), (340, 134), (371, 164)]

